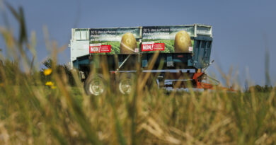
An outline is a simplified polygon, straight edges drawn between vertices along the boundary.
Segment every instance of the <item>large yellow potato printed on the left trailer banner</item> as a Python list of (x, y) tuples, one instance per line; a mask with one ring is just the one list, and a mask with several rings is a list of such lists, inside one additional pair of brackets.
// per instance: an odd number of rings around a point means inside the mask
[(122, 35), (120, 54), (132, 54), (137, 48), (137, 42), (132, 33), (125, 33)]

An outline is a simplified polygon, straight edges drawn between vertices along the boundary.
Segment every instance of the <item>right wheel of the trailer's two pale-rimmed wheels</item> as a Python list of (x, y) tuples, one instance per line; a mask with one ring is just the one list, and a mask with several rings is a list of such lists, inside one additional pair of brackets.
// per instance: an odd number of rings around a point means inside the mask
[(118, 88), (122, 94), (130, 94), (133, 90), (134, 75), (130, 73), (120, 74)]

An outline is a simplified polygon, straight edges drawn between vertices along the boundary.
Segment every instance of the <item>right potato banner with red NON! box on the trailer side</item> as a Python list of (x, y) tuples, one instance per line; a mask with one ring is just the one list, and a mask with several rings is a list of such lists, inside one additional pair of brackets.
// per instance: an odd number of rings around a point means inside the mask
[(192, 52), (194, 33), (193, 25), (143, 27), (141, 52)]

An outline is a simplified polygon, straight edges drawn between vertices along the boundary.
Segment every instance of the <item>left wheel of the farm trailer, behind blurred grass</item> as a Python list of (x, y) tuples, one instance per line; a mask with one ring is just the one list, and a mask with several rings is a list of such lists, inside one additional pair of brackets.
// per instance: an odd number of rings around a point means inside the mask
[(88, 76), (84, 82), (84, 90), (88, 95), (101, 95), (105, 93), (106, 86), (103, 76), (100, 74), (93, 74)]

